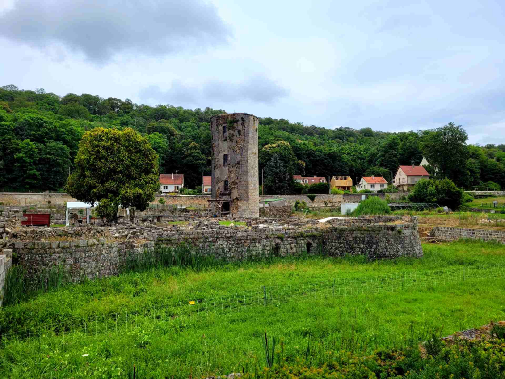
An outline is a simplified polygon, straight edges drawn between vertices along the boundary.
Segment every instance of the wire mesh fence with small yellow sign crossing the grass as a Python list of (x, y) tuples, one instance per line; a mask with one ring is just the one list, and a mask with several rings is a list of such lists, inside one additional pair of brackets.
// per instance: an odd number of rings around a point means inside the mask
[(84, 334), (99, 334), (127, 325), (136, 325), (146, 319), (164, 322), (180, 317), (201, 318), (210, 314), (226, 316), (249, 310), (254, 311), (259, 307), (279, 306), (294, 300), (412, 291), (469, 280), (503, 278), (505, 278), (505, 264), (498, 264), (391, 273), (371, 277), (335, 277), (325, 281), (302, 284), (262, 286), (209, 299), (194, 297), (178, 302), (160, 301), (140, 309), (90, 315), (84, 318), (60, 315), (59, 320), (55, 322), (24, 326), (4, 333), (2, 341), (39, 338), (49, 333), (61, 336), (74, 331)]

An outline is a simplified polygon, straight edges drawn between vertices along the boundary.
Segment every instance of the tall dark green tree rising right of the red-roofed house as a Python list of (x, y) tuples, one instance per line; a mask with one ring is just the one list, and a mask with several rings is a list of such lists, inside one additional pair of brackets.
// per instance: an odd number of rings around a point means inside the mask
[(437, 176), (449, 178), (457, 184), (464, 185), (468, 175), (466, 173), (466, 161), (468, 149), (466, 146), (467, 132), (454, 123), (423, 132), (421, 150), (435, 168)]

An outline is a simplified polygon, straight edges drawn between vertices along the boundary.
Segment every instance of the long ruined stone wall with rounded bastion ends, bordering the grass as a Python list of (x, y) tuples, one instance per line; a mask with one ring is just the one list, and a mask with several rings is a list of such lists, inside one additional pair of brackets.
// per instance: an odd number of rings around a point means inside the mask
[[(176, 248), (183, 244), (204, 254), (213, 254), (216, 258), (229, 259), (265, 253), (285, 256), (308, 252), (335, 257), (350, 254), (366, 255), (369, 259), (421, 257), (423, 254), (416, 217), (339, 218), (333, 219), (330, 227), (327, 227), (328, 224), (322, 226), (326, 227), (303, 228), (271, 221), (246, 228), (219, 225), (217, 220), (212, 220), (198, 221), (195, 226), (185, 228), (133, 225), (124, 229), (70, 228), (76, 231), (90, 229), (94, 230), (94, 234), (98, 233), (98, 229), (102, 229), (104, 234), (106, 231), (118, 233), (114, 235), (116, 241), (112, 242), (106, 238), (61, 241), (65, 238), (63, 234), (58, 241), (20, 241), (13, 238), (4, 243), (3, 252), (12, 255), (15, 263), (31, 273), (63, 265), (75, 281), (83, 276), (116, 275), (127, 260), (153, 251), (156, 246)], [(39, 233), (49, 232), (49, 228), (27, 229), (33, 229), (35, 233), (24, 234), (23, 238), (34, 238)]]

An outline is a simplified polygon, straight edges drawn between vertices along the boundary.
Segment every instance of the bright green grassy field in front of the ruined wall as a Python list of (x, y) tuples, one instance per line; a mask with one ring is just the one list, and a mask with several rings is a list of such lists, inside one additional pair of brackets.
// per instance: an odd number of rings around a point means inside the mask
[(276, 258), (228, 263), (195, 271), (171, 267), (123, 274), (41, 294), (0, 310), (3, 333), (43, 325), (42, 337), (4, 341), (0, 377), (202, 377), (226, 374), (264, 362), (262, 336), (282, 338), (286, 354), (349, 349), (370, 352), (401, 344), (409, 326), (440, 328), (444, 335), (505, 319), (505, 279), (467, 280), (450, 285), (327, 299), (299, 299), (243, 309), (228, 316), (137, 317), (107, 333), (52, 330), (52, 322), (110, 315), (163, 302), (206, 299), (261, 286), (305, 284), (342, 277), (411, 273), (505, 262), (503, 246), (458, 242), (423, 245), (422, 259), (367, 262), (363, 257)]

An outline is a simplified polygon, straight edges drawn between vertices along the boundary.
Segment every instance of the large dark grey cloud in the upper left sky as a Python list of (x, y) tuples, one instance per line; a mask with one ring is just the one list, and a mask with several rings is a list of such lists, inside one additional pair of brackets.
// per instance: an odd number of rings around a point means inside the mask
[(202, 0), (18, 0), (0, 14), (0, 36), (36, 48), (60, 43), (104, 63), (123, 52), (163, 56), (225, 44), (231, 31)]

